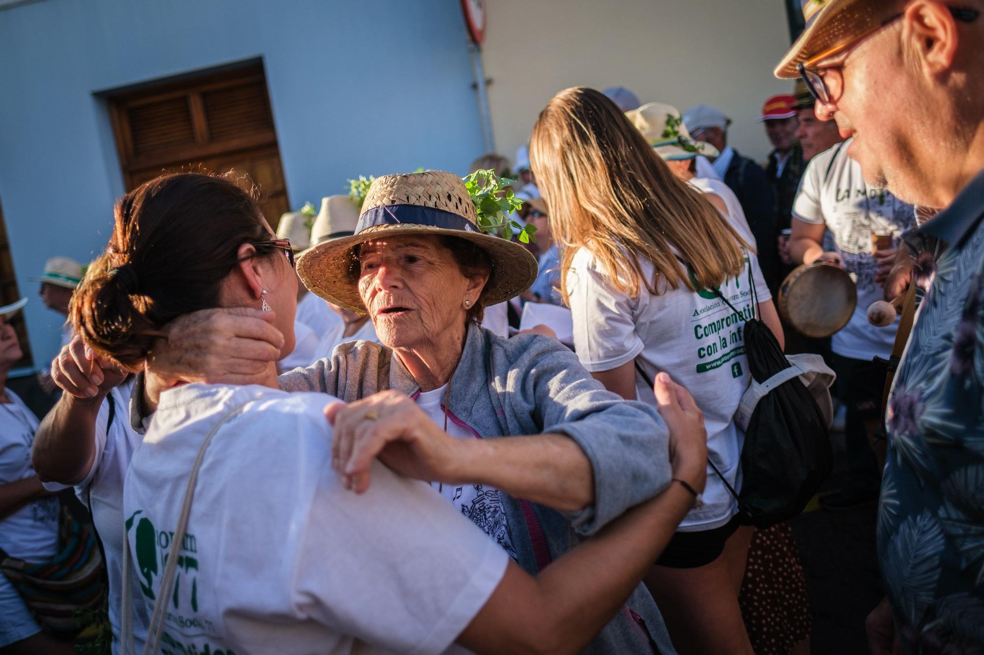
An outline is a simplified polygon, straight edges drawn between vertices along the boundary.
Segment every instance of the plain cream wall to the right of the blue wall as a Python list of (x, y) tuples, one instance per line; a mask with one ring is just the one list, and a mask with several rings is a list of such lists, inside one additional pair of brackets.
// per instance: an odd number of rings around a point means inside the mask
[(789, 47), (782, 0), (490, 0), (483, 47), (496, 148), (513, 158), (561, 89), (623, 86), (680, 111), (705, 102), (729, 143), (764, 161), (757, 120)]

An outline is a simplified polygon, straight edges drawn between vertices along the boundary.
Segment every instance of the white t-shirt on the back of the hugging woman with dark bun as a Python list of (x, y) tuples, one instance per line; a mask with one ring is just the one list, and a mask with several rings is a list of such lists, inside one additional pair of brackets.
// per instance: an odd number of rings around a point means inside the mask
[[(186, 653), (441, 653), (482, 608), (509, 557), (426, 483), (373, 463), (365, 494), (332, 468), (334, 398), (189, 385), (161, 394), (127, 474), (132, 574), (153, 608), (180, 548), (162, 643)], [(192, 462), (188, 531), (173, 543)]]

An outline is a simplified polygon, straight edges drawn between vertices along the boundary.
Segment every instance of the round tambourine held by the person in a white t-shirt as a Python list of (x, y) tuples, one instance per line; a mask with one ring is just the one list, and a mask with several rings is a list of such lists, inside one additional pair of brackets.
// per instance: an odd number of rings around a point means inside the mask
[(811, 338), (828, 337), (846, 326), (857, 304), (851, 276), (819, 262), (794, 268), (779, 287), (779, 316)]

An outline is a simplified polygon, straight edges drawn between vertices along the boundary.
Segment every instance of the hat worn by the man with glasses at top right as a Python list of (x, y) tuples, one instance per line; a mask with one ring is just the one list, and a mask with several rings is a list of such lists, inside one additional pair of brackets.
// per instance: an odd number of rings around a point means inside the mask
[(858, 34), (874, 30), (898, 13), (892, 0), (801, 0), (806, 29), (775, 67), (775, 77), (794, 80), (800, 64), (836, 52)]

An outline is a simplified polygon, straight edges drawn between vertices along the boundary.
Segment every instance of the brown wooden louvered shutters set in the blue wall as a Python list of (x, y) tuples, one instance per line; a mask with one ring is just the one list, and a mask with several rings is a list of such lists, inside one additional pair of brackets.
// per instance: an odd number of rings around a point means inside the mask
[(288, 210), (262, 64), (109, 96), (127, 191), (164, 171), (245, 173), (274, 229)]

